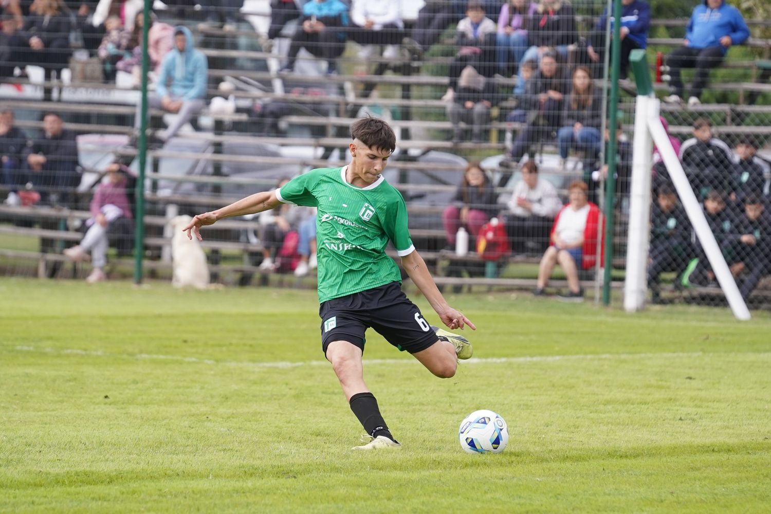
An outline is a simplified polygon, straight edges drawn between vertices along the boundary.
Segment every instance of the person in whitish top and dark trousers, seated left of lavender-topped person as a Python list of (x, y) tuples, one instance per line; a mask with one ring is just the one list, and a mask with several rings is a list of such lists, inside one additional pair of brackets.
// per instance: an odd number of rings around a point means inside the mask
[(458, 22), (455, 42), (458, 53), (449, 64), (449, 88), (442, 97), (446, 102), (452, 102), (458, 78), (466, 66), (473, 66), (483, 76), (492, 76), (490, 64), (493, 62), (492, 49), (495, 48), (496, 25), (485, 16), (481, 2), (469, 2), (466, 8), (466, 18)]

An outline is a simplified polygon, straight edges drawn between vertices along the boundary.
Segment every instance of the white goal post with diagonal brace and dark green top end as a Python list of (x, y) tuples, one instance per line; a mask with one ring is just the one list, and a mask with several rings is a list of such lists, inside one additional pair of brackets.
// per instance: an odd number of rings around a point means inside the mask
[(726, 294), (729, 307), (737, 319), (749, 320), (749, 309), (739, 293), (739, 287), (736, 286), (736, 281), (722, 256), (715, 236), (709, 229), (702, 206), (699, 200), (696, 200), (688, 177), (685, 176), (682, 164), (659, 119), (661, 103), (653, 95), (645, 51), (633, 50), (629, 60), (635, 70), (638, 96), (635, 103), (635, 135), (632, 145), (624, 308), (628, 312), (641, 311), (645, 308), (645, 297), (648, 291), (651, 156), (652, 144), (655, 143), (720, 288)]

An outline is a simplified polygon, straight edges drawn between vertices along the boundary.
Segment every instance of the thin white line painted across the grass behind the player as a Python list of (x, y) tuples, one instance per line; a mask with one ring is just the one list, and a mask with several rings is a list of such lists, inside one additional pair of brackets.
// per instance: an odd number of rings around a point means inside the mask
[[(95, 350), (77, 350), (54, 348), (35, 348), (32, 346), (17, 346), (16, 351), (30, 351), (43, 354), (61, 354), (61, 355), (85, 355), (89, 357), (118, 357), (133, 358), (140, 360), (159, 360), (159, 361), (179, 361), (194, 362), (206, 365), (224, 365), (237, 366), (242, 368), (299, 368), (301, 366), (328, 366), (328, 361), (277, 361), (277, 362), (249, 362), (249, 361), (216, 361), (214, 359), (183, 357), (180, 355), (163, 354), (116, 354), (107, 351)], [(707, 353), (702, 351), (695, 352), (671, 352), (671, 353), (641, 353), (641, 354), (577, 354), (577, 355), (536, 355), (532, 357), (490, 357), (490, 358), (470, 358), (462, 361), (462, 365), (485, 365), (485, 364), (527, 364), (537, 362), (557, 362), (557, 361), (601, 361), (601, 360), (629, 360), (629, 359), (648, 359), (648, 358), (699, 358), (706, 355), (744, 355), (742, 352), (719, 352)], [(771, 357), (771, 352), (753, 353), (756, 357)], [(408, 358), (399, 359), (364, 359), (365, 365), (416, 365), (418, 361)]]

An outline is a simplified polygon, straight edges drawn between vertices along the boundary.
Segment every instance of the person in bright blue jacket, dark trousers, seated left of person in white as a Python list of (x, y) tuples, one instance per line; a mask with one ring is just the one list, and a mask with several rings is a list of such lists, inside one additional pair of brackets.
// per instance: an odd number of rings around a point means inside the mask
[(335, 59), (345, 50), (348, 7), (340, 0), (313, 0), (302, 8), (301, 27), (291, 38), (287, 63), (280, 72), (292, 72), (300, 49), (328, 63), (327, 73), (336, 73)]

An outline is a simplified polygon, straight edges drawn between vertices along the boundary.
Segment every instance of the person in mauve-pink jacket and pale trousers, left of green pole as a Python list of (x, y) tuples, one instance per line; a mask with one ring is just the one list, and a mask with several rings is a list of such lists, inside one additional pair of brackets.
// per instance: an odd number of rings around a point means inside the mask
[[(109, 235), (114, 233), (121, 239), (127, 239), (131, 244), (133, 236), (132, 213), (127, 196), (126, 166), (112, 163), (107, 166), (106, 180), (96, 186), (96, 193), (91, 200), (89, 210), (91, 217), (86, 220), (86, 235), (80, 244), (64, 250), (64, 254), (79, 262), (91, 254), (93, 270), (86, 282), (93, 284), (107, 278), (104, 267), (107, 264), (107, 248)], [(120, 226), (120, 229), (116, 230)], [(123, 245), (126, 241), (123, 242)]]

